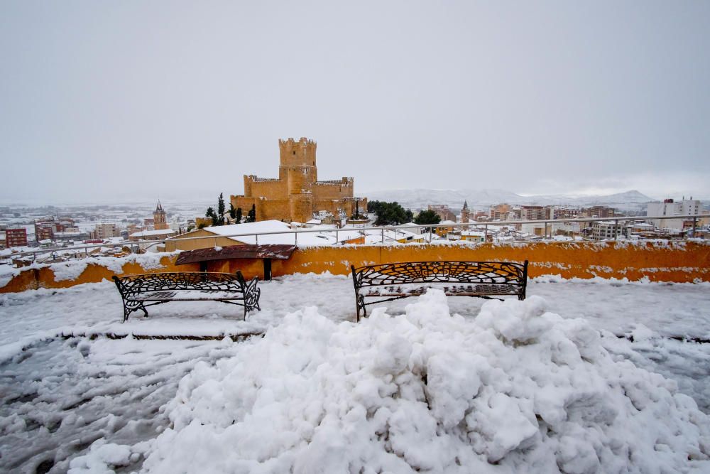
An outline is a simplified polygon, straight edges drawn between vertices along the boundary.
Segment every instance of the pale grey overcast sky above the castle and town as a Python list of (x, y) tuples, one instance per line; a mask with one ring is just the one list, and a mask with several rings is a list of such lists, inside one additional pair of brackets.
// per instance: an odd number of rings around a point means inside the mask
[(0, 200), (243, 192), (278, 139), (356, 194), (710, 198), (710, 1), (4, 1)]

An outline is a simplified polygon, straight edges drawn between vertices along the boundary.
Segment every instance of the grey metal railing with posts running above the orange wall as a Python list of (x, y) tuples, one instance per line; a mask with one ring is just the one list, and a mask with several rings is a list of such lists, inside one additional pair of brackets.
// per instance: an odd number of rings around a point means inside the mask
[[(666, 219), (674, 219), (674, 220), (693, 220), (693, 225), (692, 225), (692, 230), (693, 230), (693, 235), (696, 235), (697, 232), (697, 221), (699, 219), (703, 218), (710, 218), (710, 215), (672, 215), (672, 216), (616, 216), (616, 217), (577, 217), (577, 218), (569, 218), (569, 219), (545, 219), (545, 220), (507, 220), (507, 221), (486, 221), (486, 222), (457, 222), (457, 223), (449, 223), (449, 224), (422, 224), (422, 225), (393, 225), (393, 226), (387, 226), (387, 227), (382, 227), (382, 226), (376, 226), (376, 227), (346, 227), (346, 228), (333, 228), (333, 229), (294, 229), (294, 230), (280, 230), (280, 231), (273, 231), (273, 232), (244, 232), (244, 233), (236, 233), (236, 234), (229, 234), (229, 235), (209, 235), (209, 236), (202, 236), (202, 237), (182, 237), (182, 235), (178, 235), (175, 237), (171, 237), (170, 239), (160, 239), (160, 240), (136, 240), (136, 241), (124, 241), (124, 242), (118, 242), (118, 243), (105, 243), (105, 244), (90, 244), (90, 245), (80, 245), (80, 246), (72, 246), (72, 247), (52, 247), (52, 248), (47, 248), (47, 249), (36, 249), (36, 250), (31, 250), (28, 252), (18, 252), (15, 254), (9, 254), (4, 256), (4, 258), (22, 258), (22, 257), (27, 257), (31, 255), (33, 257), (33, 260), (37, 258), (38, 254), (48, 254), (52, 252), (77, 252), (77, 254), (81, 254), (82, 251), (84, 253), (84, 257), (89, 257), (89, 249), (97, 249), (97, 248), (102, 248), (102, 247), (111, 247), (111, 248), (116, 248), (116, 247), (129, 247), (131, 251), (134, 249), (146, 249), (148, 247), (152, 247), (153, 245), (159, 245), (159, 244), (166, 244), (168, 242), (173, 242), (175, 243), (178, 240), (213, 240), (214, 241), (214, 247), (217, 247), (217, 239), (220, 238), (233, 238), (233, 237), (254, 237), (255, 243), (259, 243), (259, 237), (260, 236), (267, 236), (267, 235), (294, 235), (294, 244), (298, 245), (298, 235), (299, 234), (307, 234), (307, 233), (313, 233), (313, 234), (334, 234), (335, 235), (335, 242), (334, 244), (344, 244), (346, 242), (340, 242), (339, 240), (339, 235), (340, 234), (352, 234), (353, 232), (359, 232), (362, 237), (365, 235), (377, 235), (380, 234), (381, 236), (381, 241), (378, 242), (379, 244), (384, 244), (386, 239), (386, 232), (394, 231), (395, 232), (395, 237), (396, 237), (396, 232), (397, 231), (411, 231), (413, 229), (422, 229), (422, 230), (431, 230), (430, 232), (427, 232), (427, 235), (429, 237), (428, 243), (432, 242), (432, 233), (435, 229), (468, 229), (471, 227), (477, 227), (477, 230), (480, 230), (481, 227), (484, 230), (484, 241), (488, 241), (488, 227), (510, 227), (510, 226), (518, 226), (518, 225), (523, 225), (523, 224), (538, 224), (538, 225), (543, 225), (544, 226), (544, 232), (543, 235), (545, 238), (547, 238), (547, 230), (548, 230), (548, 225), (550, 228), (550, 238), (552, 238), (552, 224), (572, 224), (572, 223), (581, 223), (581, 222), (614, 222), (614, 230), (615, 230), (615, 239), (618, 239), (620, 234), (618, 231), (620, 230), (619, 223), (620, 222), (638, 222), (638, 221), (650, 221), (650, 220), (666, 220)], [(367, 231), (374, 231), (371, 232), (370, 234), (366, 234)], [(359, 237), (354, 237), (354, 238), (349, 238), (347, 239), (348, 241), (350, 240), (357, 240)], [(364, 239), (363, 239), (364, 240)], [(393, 239), (390, 239), (391, 241)], [(375, 243), (375, 244), (378, 244)]]

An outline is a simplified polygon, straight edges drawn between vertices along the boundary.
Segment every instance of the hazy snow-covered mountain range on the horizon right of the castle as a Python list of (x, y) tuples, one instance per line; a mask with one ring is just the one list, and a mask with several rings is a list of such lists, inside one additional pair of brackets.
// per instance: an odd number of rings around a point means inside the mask
[(641, 210), (645, 204), (654, 200), (637, 190), (611, 195), (530, 195), (523, 196), (501, 189), (402, 189), (381, 190), (367, 193), (369, 200), (397, 201), (405, 208), (413, 210), (426, 209), (430, 204), (445, 204), (452, 209), (461, 208), (464, 200), (469, 207), (487, 208), (493, 204), (535, 204), (535, 205), (608, 205), (620, 210)]

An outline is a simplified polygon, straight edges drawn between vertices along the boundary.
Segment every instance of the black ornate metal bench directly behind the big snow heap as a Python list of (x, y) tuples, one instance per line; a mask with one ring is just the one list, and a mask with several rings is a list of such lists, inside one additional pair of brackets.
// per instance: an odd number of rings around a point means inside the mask
[[(419, 296), (438, 287), (447, 296), (518, 296), (525, 299), (528, 284), (528, 261), (510, 262), (398, 262), (355, 268), (351, 265), (355, 284), (357, 319), (367, 316), (366, 306)], [(436, 285), (434, 285), (436, 284)], [(444, 284), (444, 285), (442, 285)], [(448, 284), (448, 285), (446, 285)], [(366, 302), (365, 298), (375, 301)]]

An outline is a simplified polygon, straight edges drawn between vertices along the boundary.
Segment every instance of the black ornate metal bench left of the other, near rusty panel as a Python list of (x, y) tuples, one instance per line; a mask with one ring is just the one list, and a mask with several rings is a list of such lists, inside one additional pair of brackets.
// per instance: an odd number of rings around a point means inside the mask
[(131, 276), (113, 276), (124, 301), (124, 322), (133, 311), (141, 310), (148, 316), (146, 307), (170, 301), (220, 301), (244, 306), (246, 313), (261, 311), (256, 287), (258, 276), (244, 280), (241, 271), (236, 274), (193, 272), (151, 273)]

